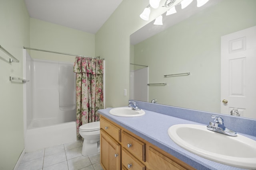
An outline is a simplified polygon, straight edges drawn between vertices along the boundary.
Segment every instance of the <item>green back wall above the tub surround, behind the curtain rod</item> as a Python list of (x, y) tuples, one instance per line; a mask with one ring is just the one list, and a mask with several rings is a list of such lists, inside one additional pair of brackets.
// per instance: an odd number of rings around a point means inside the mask
[[(95, 35), (30, 18), (31, 48), (95, 57)], [(74, 57), (30, 50), (32, 58), (74, 62)]]

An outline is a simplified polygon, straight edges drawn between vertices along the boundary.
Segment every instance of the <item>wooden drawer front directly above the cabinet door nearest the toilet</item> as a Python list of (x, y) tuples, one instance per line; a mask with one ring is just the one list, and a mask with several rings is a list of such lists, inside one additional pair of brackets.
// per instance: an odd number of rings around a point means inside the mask
[(108, 133), (116, 141), (121, 142), (121, 129), (114, 124), (110, 123), (103, 117), (100, 117), (100, 129)]

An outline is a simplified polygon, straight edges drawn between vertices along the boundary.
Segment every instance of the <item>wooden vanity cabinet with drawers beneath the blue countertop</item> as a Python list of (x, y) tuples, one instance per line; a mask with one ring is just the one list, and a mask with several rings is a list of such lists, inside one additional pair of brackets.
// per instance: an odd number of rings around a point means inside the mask
[(195, 170), (102, 115), (100, 164), (104, 170)]

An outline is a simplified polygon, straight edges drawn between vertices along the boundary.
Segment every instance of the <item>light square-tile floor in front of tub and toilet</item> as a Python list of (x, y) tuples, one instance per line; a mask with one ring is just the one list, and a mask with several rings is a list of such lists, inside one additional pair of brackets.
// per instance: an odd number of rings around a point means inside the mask
[(82, 156), (76, 141), (25, 153), (18, 170), (103, 170), (100, 153)]

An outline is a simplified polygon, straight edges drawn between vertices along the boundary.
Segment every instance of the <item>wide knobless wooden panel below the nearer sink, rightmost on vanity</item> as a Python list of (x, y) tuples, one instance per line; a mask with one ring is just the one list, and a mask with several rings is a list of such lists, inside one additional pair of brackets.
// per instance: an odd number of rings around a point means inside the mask
[(170, 159), (152, 147), (148, 149), (147, 160), (150, 168), (154, 170), (194, 170), (194, 168), (186, 165), (177, 158), (173, 157), (173, 159)]

